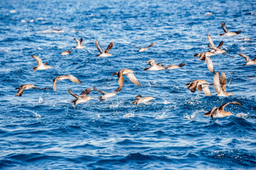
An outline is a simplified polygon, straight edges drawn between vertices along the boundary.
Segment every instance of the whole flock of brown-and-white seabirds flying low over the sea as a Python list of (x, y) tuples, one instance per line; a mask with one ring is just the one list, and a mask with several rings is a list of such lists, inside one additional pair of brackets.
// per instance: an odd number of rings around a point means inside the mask
[[(239, 33), (241, 33), (241, 30), (239, 30), (235, 33), (230, 32), (228, 30), (228, 28), (226, 28), (224, 22), (222, 23), (222, 28), (225, 33), (220, 34), (221, 36), (233, 36), (233, 35), (238, 35)], [(213, 40), (210, 38), (210, 35), (208, 35), (207, 37), (208, 37), (208, 41), (210, 42), (210, 45), (208, 45), (210, 50), (208, 52), (198, 53), (198, 54), (194, 55), (194, 57), (200, 57), (200, 60), (206, 61), (209, 71), (215, 74), (213, 77), (213, 84), (209, 84), (206, 80), (203, 80), (203, 79), (197, 79), (197, 80), (191, 81), (188, 84), (186, 84), (186, 88), (191, 90), (191, 92), (193, 92), (193, 93), (195, 93), (195, 91), (197, 89), (198, 91), (203, 91), (204, 94), (206, 94), (206, 96), (211, 96), (208, 86), (214, 85), (215, 91), (217, 92), (217, 96), (225, 96), (226, 97), (226, 96), (234, 95), (231, 92), (226, 92), (227, 78), (225, 76), (225, 73), (223, 72), (221, 74), (221, 76), (219, 75), (219, 72), (215, 73), (214, 68), (213, 68), (213, 62), (210, 59), (210, 56), (213, 56), (213, 55), (218, 55), (218, 54), (228, 55), (225, 53), (225, 50), (220, 49), (220, 47), (222, 47), (222, 45), (223, 45), (223, 41), (221, 41), (220, 44), (218, 45), (218, 47), (216, 47)], [(77, 43), (77, 45), (75, 47), (76, 49), (81, 49), (81, 48), (85, 47), (82, 45), (82, 38), (80, 40), (78, 40), (76, 38), (74, 38), (74, 39)], [(244, 38), (243, 40), (247, 40), (247, 39), (248, 38)], [(153, 47), (154, 44), (155, 43), (152, 43), (148, 47), (138, 47), (139, 50), (137, 52), (144, 52), (145, 50), (148, 50), (149, 47)], [(109, 51), (112, 49), (114, 42), (110, 42), (110, 45), (108, 45), (106, 50), (102, 50), (102, 47), (100, 47), (100, 44), (97, 40), (95, 42), (95, 45), (97, 47), (97, 50), (99, 50), (99, 52), (100, 52), (100, 55), (97, 55), (97, 57), (112, 56), (112, 54), (110, 54)], [(134, 47), (137, 47), (137, 46), (134, 46)], [(65, 52), (62, 52), (61, 55), (69, 55), (70, 52), (72, 52), (72, 51), (67, 50)], [(256, 64), (256, 57), (254, 59), (250, 60), (250, 57), (248, 57), (245, 54), (239, 53), (238, 55), (245, 58), (247, 63), (245, 63), (244, 65)], [(233, 57), (230, 55), (228, 55), (228, 56)], [(36, 63), (38, 64), (37, 67), (33, 67), (33, 71), (45, 70), (45, 69), (52, 68), (51, 66), (48, 65), (48, 62), (43, 63), (43, 61), (41, 60), (40, 57), (37, 57), (36, 55), (31, 55), (31, 57), (33, 57), (33, 59), (35, 59)], [(178, 65), (171, 64), (171, 65), (164, 67), (163, 64), (161, 64), (161, 62), (156, 63), (156, 60), (149, 60), (149, 61), (147, 61), (147, 63), (149, 63), (150, 67), (144, 69), (144, 71), (156, 71), (156, 70), (163, 70), (163, 69), (178, 69), (185, 65), (184, 63), (181, 63)], [(102, 94), (102, 96), (99, 97), (100, 101), (107, 100), (107, 98), (111, 98), (112, 96), (117, 95), (117, 93), (122, 90), (122, 87), (124, 86), (124, 75), (127, 76), (129, 78), (129, 80), (132, 81), (132, 83), (136, 84), (137, 86), (141, 86), (141, 84), (139, 84), (138, 79), (134, 76), (134, 71), (132, 69), (121, 69), (112, 75), (113, 76), (117, 75), (118, 84), (119, 84), (119, 87), (117, 89), (115, 89), (114, 91), (107, 93), (105, 91), (98, 90), (96, 87), (93, 87), (93, 89), (95, 91), (98, 91)], [(74, 77), (71, 74), (62, 75), (59, 77), (55, 77), (55, 79), (53, 79), (53, 91), (56, 91), (56, 89), (57, 89), (57, 81), (65, 80), (65, 79), (70, 79), (70, 81), (73, 81), (74, 83), (77, 83), (77, 84), (82, 83), (77, 77)], [(22, 96), (23, 91), (25, 89), (40, 89), (40, 88), (36, 87), (33, 84), (23, 84), (22, 86), (20, 86), (16, 89), (18, 89), (16, 96)], [(48, 89), (48, 88), (44, 88), (44, 89)], [(85, 91), (82, 91), (82, 93), (80, 95), (78, 95), (78, 94), (74, 94), (71, 89), (68, 89), (68, 92), (73, 97), (75, 97), (75, 99), (73, 101), (71, 101), (71, 103), (74, 103), (74, 105), (76, 106), (79, 103), (85, 103), (87, 101), (90, 101), (91, 99), (93, 99), (92, 96), (88, 96), (90, 94), (90, 91), (91, 91), (91, 88), (87, 88), (87, 89), (85, 89)], [(139, 103), (146, 103), (148, 101), (156, 99), (152, 96), (142, 97), (141, 95), (136, 96), (135, 98), (136, 98), (136, 100), (133, 101), (132, 103), (137, 104), (137, 105), (139, 105)], [(213, 118), (223, 118), (228, 115), (233, 115), (230, 112), (224, 111), (225, 106), (227, 106), (228, 104), (242, 105), (242, 103), (239, 103), (237, 101), (225, 103), (220, 107), (213, 108), (211, 111), (209, 111), (208, 113), (205, 113), (204, 115), (210, 116), (210, 118), (212, 118), (212, 119)]]

